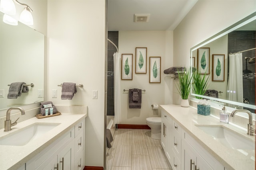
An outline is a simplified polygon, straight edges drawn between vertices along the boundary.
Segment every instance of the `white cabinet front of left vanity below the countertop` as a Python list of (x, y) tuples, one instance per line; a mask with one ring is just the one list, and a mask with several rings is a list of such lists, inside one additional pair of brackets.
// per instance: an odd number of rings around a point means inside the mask
[(26, 170), (80, 170), (84, 167), (85, 120), (26, 163)]

